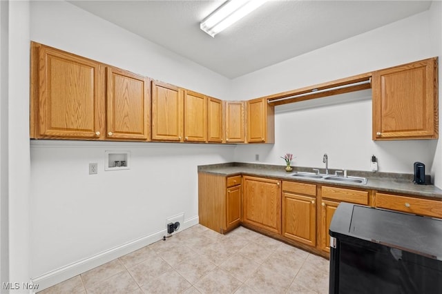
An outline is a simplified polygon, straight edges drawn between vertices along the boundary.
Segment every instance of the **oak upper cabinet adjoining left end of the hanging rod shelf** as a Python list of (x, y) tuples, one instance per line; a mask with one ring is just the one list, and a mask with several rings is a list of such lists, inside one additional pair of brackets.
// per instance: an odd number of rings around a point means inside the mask
[(274, 109), (265, 98), (247, 101), (248, 143), (275, 143)]

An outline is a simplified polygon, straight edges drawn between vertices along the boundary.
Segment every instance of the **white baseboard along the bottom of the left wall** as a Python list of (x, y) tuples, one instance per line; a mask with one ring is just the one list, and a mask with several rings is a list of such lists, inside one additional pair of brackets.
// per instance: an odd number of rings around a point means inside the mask
[[(194, 226), (198, 223), (198, 216), (192, 217), (191, 219), (186, 219), (184, 221), (184, 224), (182, 224), (182, 226), (180, 227), (180, 231), (185, 230), (186, 228), (190, 228), (191, 226)], [(158, 231), (156, 233), (152, 233), (151, 235), (147, 235), (145, 237), (141, 237), (139, 239), (135, 239), (126, 244), (111, 248), (107, 251), (98, 253), (86, 259), (73, 262), (72, 264), (62, 266), (61, 268), (57, 268), (54, 271), (50, 271), (48, 273), (45, 273), (44, 275), (39, 275), (38, 277), (32, 278), (32, 284), (38, 284), (37, 291), (42, 291), (46, 288), (49, 288), (50, 286), (54, 286), (55, 284), (66, 281), (71, 277), (75, 277), (80, 273), (84, 273), (92, 268), (101, 266), (102, 264), (106, 264), (106, 262), (111, 262), (113, 259), (122, 257), (123, 255), (131, 253), (132, 251), (155, 243), (161, 240), (164, 235), (167, 235), (166, 229)]]

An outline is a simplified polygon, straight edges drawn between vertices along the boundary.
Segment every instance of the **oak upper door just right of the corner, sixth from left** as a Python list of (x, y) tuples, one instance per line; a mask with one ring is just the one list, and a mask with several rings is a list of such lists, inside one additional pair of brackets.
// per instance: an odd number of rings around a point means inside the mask
[(244, 143), (244, 101), (226, 102), (226, 142)]

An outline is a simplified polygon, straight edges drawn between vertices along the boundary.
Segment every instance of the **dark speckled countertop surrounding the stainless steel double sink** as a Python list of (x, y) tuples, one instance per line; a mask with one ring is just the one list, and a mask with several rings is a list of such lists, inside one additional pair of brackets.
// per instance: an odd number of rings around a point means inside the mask
[[(363, 188), (367, 190), (378, 190), (390, 193), (410, 194), (416, 196), (430, 197), (442, 199), (442, 190), (434, 185), (416, 185), (413, 183), (413, 175), (398, 174), (398, 173), (370, 173), (358, 170), (347, 170), (348, 176), (367, 177), (367, 184), (356, 183), (339, 183), (330, 182), (325, 179), (309, 179), (302, 178), (302, 180), (291, 176), (297, 171), (313, 172), (312, 168), (303, 168), (294, 166), (294, 170), (287, 173), (284, 170), (285, 166), (274, 166), (269, 164), (244, 164), (240, 162), (233, 162), (228, 164), (209, 164), (205, 166), (198, 166), (198, 172), (212, 173), (216, 175), (255, 175), (258, 177), (273, 177), (278, 179), (290, 179), (297, 182), (311, 182), (315, 184), (329, 184), (333, 186), (344, 186)], [(323, 173), (323, 168), (320, 168)], [(334, 169), (330, 169), (329, 173), (334, 174)], [(429, 181), (428, 181), (429, 182)]]

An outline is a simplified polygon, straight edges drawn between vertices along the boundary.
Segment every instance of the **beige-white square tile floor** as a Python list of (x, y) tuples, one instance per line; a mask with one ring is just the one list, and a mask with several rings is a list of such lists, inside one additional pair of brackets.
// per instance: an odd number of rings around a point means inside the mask
[(196, 225), (39, 293), (328, 293), (328, 277), (323, 257)]

